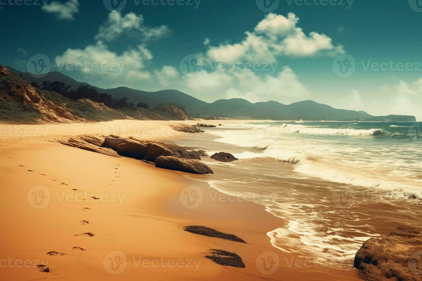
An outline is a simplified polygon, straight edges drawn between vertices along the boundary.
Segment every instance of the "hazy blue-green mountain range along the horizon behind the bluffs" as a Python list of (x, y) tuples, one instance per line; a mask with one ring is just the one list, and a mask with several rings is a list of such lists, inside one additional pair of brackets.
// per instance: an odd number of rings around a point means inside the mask
[[(35, 78), (28, 72), (21, 72), (8, 67), (11, 72), (21, 75), (28, 82), (35, 81), (42, 84), (44, 81), (61, 81), (76, 89), (81, 84), (60, 72), (50, 72), (46, 77)], [(281, 104), (279, 102), (256, 102), (251, 103), (245, 99), (219, 99), (208, 103), (196, 99), (177, 90), (162, 90), (147, 92), (127, 87), (112, 89), (96, 88), (101, 93), (109, 93), (116, 98), (127, 96), (130, 101), (136, 103), (146, 102), (150, 107), (160, 104), (168, 104), (176, 107), (184, 107), (189, 116), (201, 118), (251, 118), (251, 119), (272, 119), (272, 120), (333, 120), (333, 121), (408, 121), (414, 122), (416, 118), (409, 115), (387, 115), (373, 116), (364, 111), (335, 109), (326, 104), (306, 100), (292, 104)]]

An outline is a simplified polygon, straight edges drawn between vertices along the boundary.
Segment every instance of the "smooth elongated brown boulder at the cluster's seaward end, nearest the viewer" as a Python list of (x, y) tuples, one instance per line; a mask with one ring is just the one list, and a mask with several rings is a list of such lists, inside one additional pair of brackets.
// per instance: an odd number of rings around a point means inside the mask
[(192, 174), (214, 174), (204, 163), (192, 160), (181, 159), (173, 156), (160, 156), (155, 159), (155, 166), (162, 169), (187, 172)]

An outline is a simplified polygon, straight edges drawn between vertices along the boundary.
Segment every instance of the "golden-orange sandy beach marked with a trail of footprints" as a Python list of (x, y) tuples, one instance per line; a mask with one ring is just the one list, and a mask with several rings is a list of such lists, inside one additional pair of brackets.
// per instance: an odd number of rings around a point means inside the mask
[[(195, 137), (174, 131), (169, 127), (174, 123), (0, 125), (2, 279), (361, 280), (354, 268), (326, 268), (271, 246), (266, 233), (279, 227), (280, 219), (265, 206), (219, 193), (203, 181), (206, 175), (189, 179), (132, 158), (56, 142), (115, 130), (166, 142)], [(189, 196), (198, 192), (192, 201)], [(183, 229), (188, 225), (247, 243), (192, 234)], [(209, 249), (234, 252), (246, 267), (218, 265), (204, 257)], [(53, 251), (58, 254), (47, 254)]]

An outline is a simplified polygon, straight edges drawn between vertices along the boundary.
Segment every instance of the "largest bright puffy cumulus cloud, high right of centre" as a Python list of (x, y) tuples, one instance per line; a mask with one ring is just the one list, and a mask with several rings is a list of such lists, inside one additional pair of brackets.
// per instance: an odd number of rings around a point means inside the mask
[(207, 51), (210, 59), (233, 62), (246, 59), (254, 62), (275, 62), (277, 56), (308, 57), (343, 54), (342, 45), (333, 45), (325, 34), (310, 32), (306, 35), (297, 27), (299, 18), (294, 13), (287, 17), (269, 13), (253, 32), (245, 32), (240, 43), (220, 44)]

